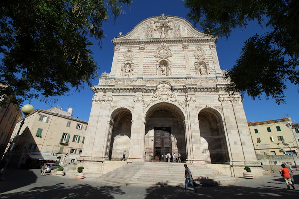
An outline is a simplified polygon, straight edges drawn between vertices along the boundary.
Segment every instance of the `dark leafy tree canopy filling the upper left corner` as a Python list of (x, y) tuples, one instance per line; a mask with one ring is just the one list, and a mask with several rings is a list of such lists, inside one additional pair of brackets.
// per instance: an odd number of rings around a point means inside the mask
[[(101, 42), (108, 9), (114, 20), (130, 0), (1, 0), (0, 99), (61, 96), (91, 86), (97, 64), (87, 37)], [(7, 101), (3, 100), (0, 105)]]

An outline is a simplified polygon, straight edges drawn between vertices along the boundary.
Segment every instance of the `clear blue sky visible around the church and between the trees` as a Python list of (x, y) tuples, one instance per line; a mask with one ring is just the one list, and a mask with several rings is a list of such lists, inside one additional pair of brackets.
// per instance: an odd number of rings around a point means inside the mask
[[(118, 36), (119, 32), (127, 34), (139, 22), (151, 17), (159, 16), (162, 13), (171, 16), (180, 16), (186, 18), (188, 9), (184, 7), (182, 0), (150, 0), (141, 1), (133, 0), (129, 7), (123, 7), (124, 13), (116, 19), (113, 23), (113, 18), (110, 17), (103, 23), (104, 33), (106, 38), (102, 40), (102, 50), (97, 45), (97, 41), (93, 41), (94, 45), (91, 50), (94, 52), (94, 59), (98, 63), (99, 75), (106, 71), (110, 72), (112, 59), (113, 59), (113, 44), (111, 40)], [(111, 16), (111, 14), (110, 14)], [(196, 27), (201, 30), (199, 26)], [(240, 56), (244, 42), (257, 32), (264, 33), (267, 30), (262, 29), (256, 23), (250, 23), (245, 30), (235, 30), (228, 39), (220, 38), (217, 40), (217, 53), (222, 70), (230, 69), (235, 65), (236, 59)], [(93, 85), (98, 84), (98, 78), (93, 80)], [(299, 122), (298, 104), (297, 99), (299, 93), (297, 86), (288, 84), (285, 92), (287, 104), (277, 105), (274, 100), (252, 100), (245, 95), (243, 105), (247, 121), (265, 121), (272, 119), (283, 118), (284, 115), (289, 115), (293, 122)], [(38, 99), (27, 100), (24, 104), (32, 104), (35, 109), (49, 109), (51, 107), (60, 106), (63, 110), (72, 107), (73, 117), (78, 117), (81, 120), (89, 120), (89, 114), (92, 105), (93, 92), (90, 88), (86, 87), (84, 90), (77, 92), (73, 90), (68, 95), (61, 96), (57, 103), (46, 104), (40, 102)]]

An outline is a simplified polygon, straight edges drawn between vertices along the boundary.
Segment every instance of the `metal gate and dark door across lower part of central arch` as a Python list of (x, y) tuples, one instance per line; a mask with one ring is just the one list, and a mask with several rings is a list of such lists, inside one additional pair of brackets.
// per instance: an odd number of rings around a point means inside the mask
[(170, 127), (155, 127), (153, 133), (145, 136), (145, 161), (147, 162), (166, 162), (165, 155), (167, 153), (171, 156), (175, 153), (175, 156), (178, 157), (178, 152), (181, 154), (181, 161), (185, 161), (185, 136), (171, 134)]

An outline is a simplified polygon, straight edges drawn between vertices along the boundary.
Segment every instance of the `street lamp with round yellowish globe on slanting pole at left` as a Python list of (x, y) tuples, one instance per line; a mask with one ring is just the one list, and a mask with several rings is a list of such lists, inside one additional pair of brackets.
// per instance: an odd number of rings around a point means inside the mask
[(12, 156), (12, 152), (13, 152), (13, 149), (14, 149), (14, 145), (16, 143), (16, 139), (17, 139), (17, 137), (18, 137), (18, 135), (21, 131), (22, 126), (25, 123), (26, 116), (31, 114), (34, 111), (34, 107), (30, 104), (27, 104), (27, 105), (24, 105), (21, 110), (22, 110), (22, 112), (25, 116), (22, 118), (22, 121), (20, 123), (20, 127), (19, 127), (16, 135), (14, 136), (9, 149), (6, 151), (6, 153), (3, 155), (2, 159), (1, 159), (1, 163), (0, 163), (0, 180), (4, 180), (4, 177), (3, 177), (4, 172), (6, 171), (8, 163), (9, 163), (10, 158)]

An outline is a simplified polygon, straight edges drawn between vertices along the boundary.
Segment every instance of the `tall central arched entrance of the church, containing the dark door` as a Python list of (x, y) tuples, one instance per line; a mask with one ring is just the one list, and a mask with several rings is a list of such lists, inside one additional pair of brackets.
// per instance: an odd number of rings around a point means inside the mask
[[(184, 116), (170, 103), (158, 103), (149, 109), (145, 128), (145, 161), (166, 162), (167, 153), (187, 159)], [(171, 159), (172, 162), (172, 159)]]

